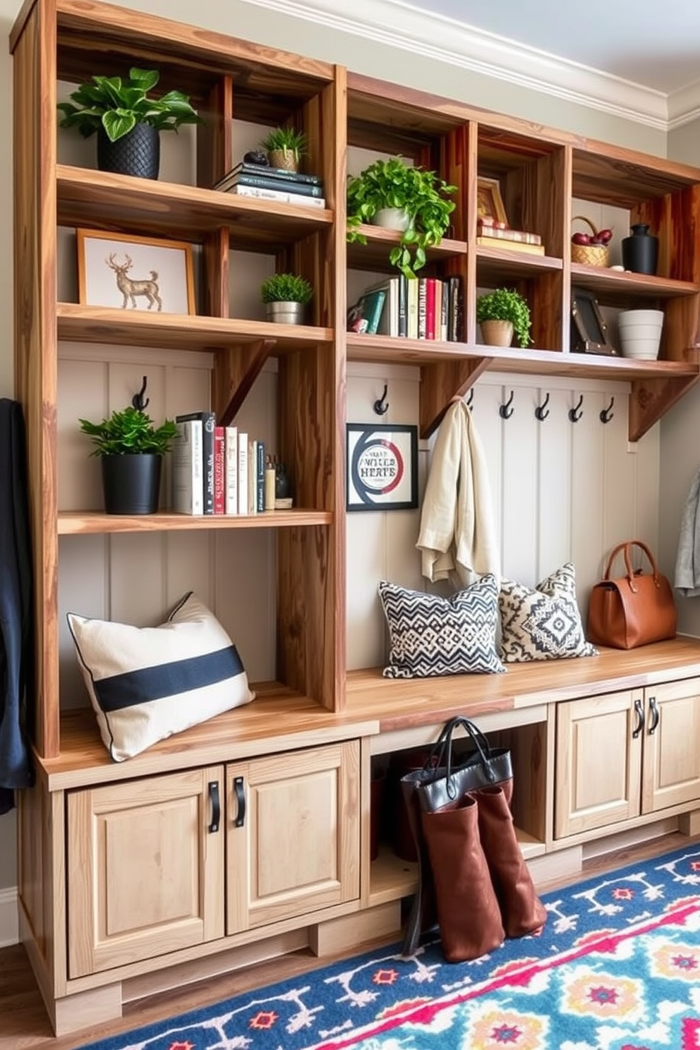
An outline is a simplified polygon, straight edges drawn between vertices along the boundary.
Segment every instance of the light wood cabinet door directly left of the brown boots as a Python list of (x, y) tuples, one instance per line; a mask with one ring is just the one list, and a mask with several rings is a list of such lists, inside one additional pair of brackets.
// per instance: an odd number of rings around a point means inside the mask
[(358, 740), (227, 766), (227, 933), (359, 898)]

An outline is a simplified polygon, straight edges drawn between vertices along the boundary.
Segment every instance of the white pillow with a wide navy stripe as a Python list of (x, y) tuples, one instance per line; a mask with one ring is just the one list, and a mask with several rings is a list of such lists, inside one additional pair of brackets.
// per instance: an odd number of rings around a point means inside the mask
[(236, 647), (192, 593), (158, 627), (67, 620), (114, 761), (255, 698)]

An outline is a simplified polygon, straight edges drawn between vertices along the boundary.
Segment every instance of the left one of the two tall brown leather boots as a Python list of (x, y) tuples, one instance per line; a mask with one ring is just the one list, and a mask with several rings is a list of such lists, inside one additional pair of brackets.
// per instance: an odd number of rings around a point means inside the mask
[(504, 940), (501, 909), (479, 838), (479, 810), (465, 796), (455, 808), (422, 813), (430, 856), (440, 940), (448, 963), (479, 959)]

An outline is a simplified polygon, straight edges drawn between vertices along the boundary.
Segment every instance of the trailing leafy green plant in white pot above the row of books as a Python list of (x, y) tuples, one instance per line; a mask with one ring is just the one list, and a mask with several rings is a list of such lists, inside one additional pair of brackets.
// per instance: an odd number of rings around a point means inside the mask
[[(425, 250), (439, 245), (449, 227), (455, 193), (434, 171), (404, 164), (401, 158), (375, 161), (347, 182), (347, 239), (366, 244), (363, 223), (401, 230), (389, 262), (412, 279), (425, 266)], [(390, 211), (387, 211), (390, 209)]]

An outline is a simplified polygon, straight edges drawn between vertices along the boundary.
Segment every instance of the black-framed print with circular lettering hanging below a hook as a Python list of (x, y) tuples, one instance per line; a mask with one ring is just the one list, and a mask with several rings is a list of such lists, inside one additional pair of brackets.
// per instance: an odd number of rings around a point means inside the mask
[(345, 476), (346, 510), (415, 510), (418, 427), (347, 423)]

